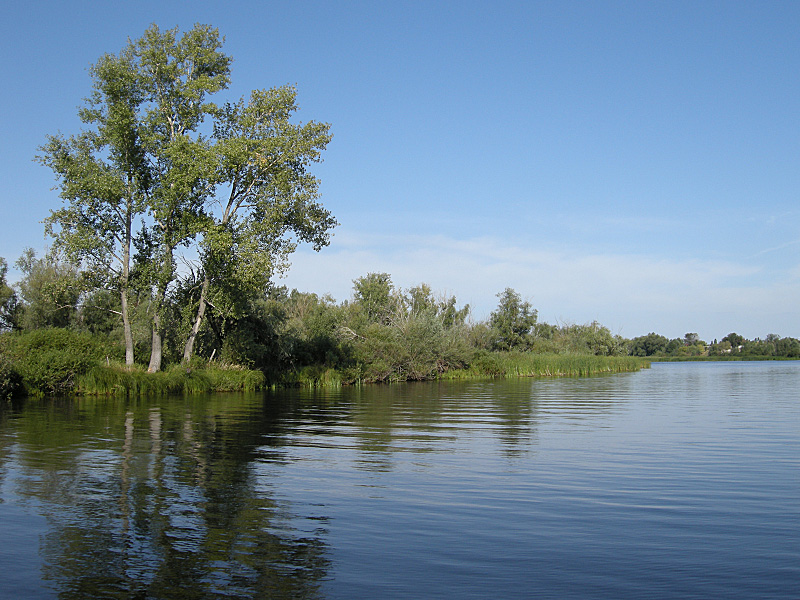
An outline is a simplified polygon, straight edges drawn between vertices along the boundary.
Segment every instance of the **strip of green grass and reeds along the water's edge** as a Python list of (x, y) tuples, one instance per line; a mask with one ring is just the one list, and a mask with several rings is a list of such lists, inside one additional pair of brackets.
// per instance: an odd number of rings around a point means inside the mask
[[(278, 369), (268, 379), (258, 370), (200, 359), (188, 366), (176, 364), (164, 371), (148, 373), (143, 366), (127, 367), (118, 359), (111, 359), (101, 340), (68, 330), (3, 335), (0, 342), (0, 397), (3, 398), (73, 394), (164, 396), (425, 379), (580, 377), (636, 371), (650, 364), (650, 360), (638, 357), (464, 350), (458, 361), (447, 361), (442, 356), (413, 360), (414, 357), (402, 353), (399, 354), (402, 360), (390, 361), (384, 354), (378, 356), (380, 360), (355, 360), (339, 369), (321, 365)], [(417, 368), (412, 368), (415, 365)]]

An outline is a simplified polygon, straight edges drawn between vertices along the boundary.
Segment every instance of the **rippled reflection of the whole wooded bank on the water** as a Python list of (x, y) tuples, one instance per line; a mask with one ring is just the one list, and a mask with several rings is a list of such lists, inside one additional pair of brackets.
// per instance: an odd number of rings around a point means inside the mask
[(354, 493), (413, 500), (419, 481), (444, 490), (449, 469), (479, 486), (505, 468), (496, 456), (537, 446), (544, 420), (602, 426), (623, 401), (612, 382), (30, 400), (0, 407), (0, 484), (48, 519), (42, 577), (61, 598), (314, 598), (328, 510), (347, 515)]

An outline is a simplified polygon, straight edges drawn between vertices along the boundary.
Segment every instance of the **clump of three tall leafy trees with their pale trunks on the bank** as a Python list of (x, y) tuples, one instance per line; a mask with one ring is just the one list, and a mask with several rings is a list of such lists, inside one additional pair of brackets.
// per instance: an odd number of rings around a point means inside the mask
[(182, 35), (152, 25), (119, 54), (104, 55), (79, 110), (85, 129), (50, 136), (38, 157), (56, 174), (64, 202), (47, 231), (95, 286), (119, 294), (128, 364), (128, 304), (134, 291), (146, 292), (150, 370), (161, 366), (181, 248), (193, 248), (203, 281), (188, 357), (209, 296), (235, 312), (243, 292), (263, 290), (286, 267), (298, 242), (319, 250), (336, 225), (309, 171), (330, 126), (291, 122), (289, 86), (214, 103), (230, 83), (223, 41), (207, 25)]

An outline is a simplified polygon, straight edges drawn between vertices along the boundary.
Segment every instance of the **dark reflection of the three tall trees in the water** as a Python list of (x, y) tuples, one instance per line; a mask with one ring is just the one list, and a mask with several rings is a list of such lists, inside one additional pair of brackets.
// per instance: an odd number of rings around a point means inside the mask
[(31, 403), (17, 432), (60, 598), (319, 596), (325, 530), (256, 485), (260, 397), (73, 402)]

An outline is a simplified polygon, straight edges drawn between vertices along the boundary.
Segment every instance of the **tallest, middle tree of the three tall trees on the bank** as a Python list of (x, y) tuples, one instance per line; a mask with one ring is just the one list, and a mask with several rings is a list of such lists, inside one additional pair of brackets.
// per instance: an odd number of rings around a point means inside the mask
[(231, 59), (220, 51), (216, 29), (196, 25), (180, 38), (177, 33), (177, 28), (162, 32), (153, 25), (129, 44), (144, 95), (140, 118), (152, 173), (150, 239), (157, 245), (149, 371), (161, 368), (164, 301), (175, 280), (175, 250), (201, 229), (203, 207), (214, 190), (214, 154), (198, 131), (207, 116), (217, 113), (206, 98), (230, 82)]

